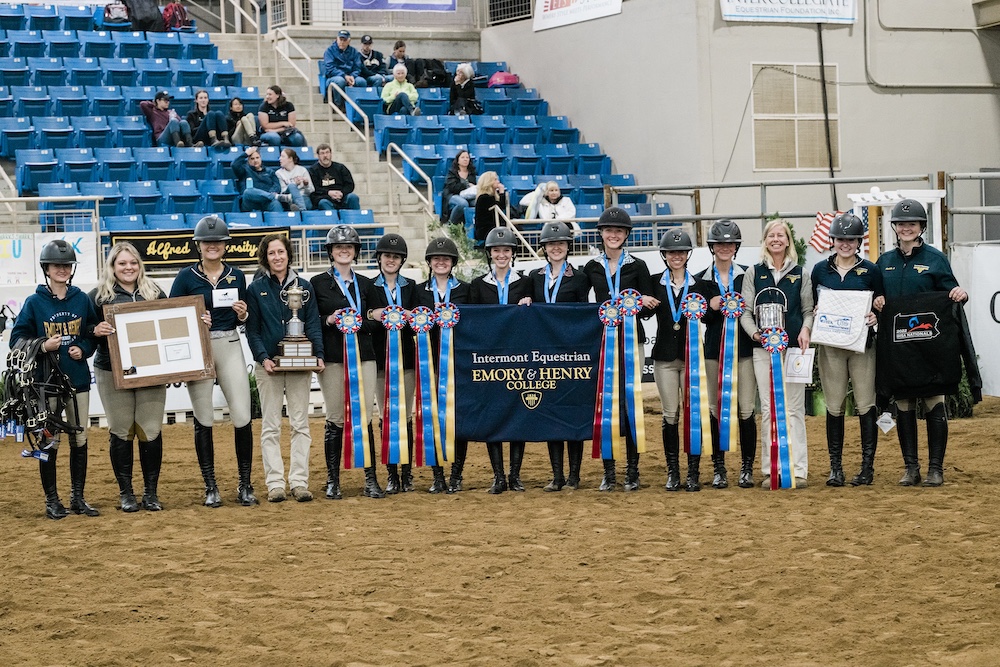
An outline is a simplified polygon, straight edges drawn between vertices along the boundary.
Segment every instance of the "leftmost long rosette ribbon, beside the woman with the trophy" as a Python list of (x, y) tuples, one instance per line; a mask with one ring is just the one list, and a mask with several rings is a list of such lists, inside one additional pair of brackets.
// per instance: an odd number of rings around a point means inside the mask
[(344, 468), (370, 468), (375, 462), (368, 436), (368, 406), (363, 400), (361, 347), (355, 335), (361, 330), (361, 317), (354, 308), (341, 308), (333, 320), (344, 334)]

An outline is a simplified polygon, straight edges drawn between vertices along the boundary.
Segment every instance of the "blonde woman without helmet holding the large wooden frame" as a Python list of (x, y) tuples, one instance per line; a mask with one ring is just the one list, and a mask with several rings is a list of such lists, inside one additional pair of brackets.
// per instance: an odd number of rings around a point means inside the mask
[(165, 299), (166, 293), (160, 286), (146, 277), (139, 251), (131, 243), (116, 243), (108, 254), (101, 283), (90, 292), (99, 318), (94, 327), (97, 338), (97, 353), (94, 356), (94, 376), (97, 379), (97, 393), (108, 417), (108, 437), (110, 439), (111, 468), (118, 481), (119, 507), (123, 512), (138, 512), (140, 504), (132, 490), (132, 466), (134, 454), (132, 438), (139, 438), (139, 465), (142, 466), (142, 505), (157, 512), (163, 509), (156, 493), (160, 478), (160, 463), (163, 460), (163, 405), (167, 400), (167, 387), (142, 387), (139, 389), (115, 389), (111, 375), (111, 356), (108, 353), (107, 337), (114, 328), (104, 319), (104, 306), (114, 303), (133, 303)]

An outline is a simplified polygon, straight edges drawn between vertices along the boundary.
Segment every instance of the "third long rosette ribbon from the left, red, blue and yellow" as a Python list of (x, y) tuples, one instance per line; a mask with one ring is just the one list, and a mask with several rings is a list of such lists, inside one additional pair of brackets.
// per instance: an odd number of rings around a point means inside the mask
[(416, 400), (413, 406), (413, 449), (416, 465), (443, 465), (440, 451), (441, 434), (438, 428), (437, 392), (434, 382), (434, 352), (431, 348), (431, 329), (434, 328), (434, 311), (427, 306), (417, 306), (410, 311), (410, 328), (417, 343)]

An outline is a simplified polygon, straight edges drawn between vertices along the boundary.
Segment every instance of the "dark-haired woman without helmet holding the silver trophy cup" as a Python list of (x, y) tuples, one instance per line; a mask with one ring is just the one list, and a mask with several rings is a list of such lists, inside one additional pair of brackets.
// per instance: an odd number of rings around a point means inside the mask
[(277, 370), (279, 343), (286, 336), (286, 323), (292, 319), (286, 290), (303, 290), (302, 308), (297, 317), (302, 321), (302, 333), (312, 344), (312, 353), (319, 358), (316, 369), (322, 373), (323, 335), (319, 311), (309, 281), (293, 268), (292, 242), (287, 233), (268, 234), (257, 247), (257, 263), (261, 276), (247, 287), (247, 344), (254, 358), (254, 377), (260, 392), (260, 454), (264, 464), (264, 483), (269, 502), (285, 499), (285, 465), (281, 458), (281, 409), (288, 405), (291, 426), (291, 448), (288, 462), (288, 489), (298, 502), (312, 500), (309, 491), (309, 391), (312, 373), (309, 369)]

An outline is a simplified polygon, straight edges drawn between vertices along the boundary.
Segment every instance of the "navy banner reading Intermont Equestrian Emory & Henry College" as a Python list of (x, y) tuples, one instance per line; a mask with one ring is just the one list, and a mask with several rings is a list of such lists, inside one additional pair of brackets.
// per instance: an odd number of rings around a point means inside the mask
[(459, 306), (458, 437), (590, 440), (601, 321), (596, 304)]

